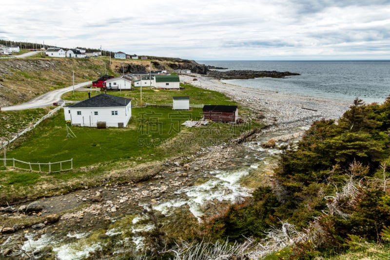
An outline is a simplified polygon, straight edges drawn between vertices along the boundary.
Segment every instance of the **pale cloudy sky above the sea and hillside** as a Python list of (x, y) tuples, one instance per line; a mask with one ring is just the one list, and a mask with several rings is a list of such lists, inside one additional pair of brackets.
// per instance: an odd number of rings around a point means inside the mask
[(390, 60), (390, 0), (17, 0), (0, 39), (191, 60)]

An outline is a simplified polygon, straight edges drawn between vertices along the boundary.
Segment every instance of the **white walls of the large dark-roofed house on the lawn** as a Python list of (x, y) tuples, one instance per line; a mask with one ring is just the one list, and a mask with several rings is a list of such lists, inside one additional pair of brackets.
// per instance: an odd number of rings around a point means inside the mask
[[(117, 115), (113, 115), (113, 111), (114, 114), (117, 111)], [(107, 127), (118, 127), (118, 123), (126, 126), (131, 118), (131, 102), (126, 107), (64, 107), (64, 115), (72, 125), (97, 127), (98, 121), (102, 121), (106, 122)]]

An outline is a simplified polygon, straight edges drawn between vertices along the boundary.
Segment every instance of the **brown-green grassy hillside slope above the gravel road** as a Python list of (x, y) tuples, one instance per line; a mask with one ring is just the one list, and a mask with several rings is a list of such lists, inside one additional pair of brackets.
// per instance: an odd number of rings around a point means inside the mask
[(205, 74), (207, 68), (192, 60), (158, 58), (153, 60), (64, 59), (33, 57), (0, 60), (0, 107), (22, 103), (50, 90), (96, 80), (99, 75), (118, 76), (135, 71), (189, 69)]

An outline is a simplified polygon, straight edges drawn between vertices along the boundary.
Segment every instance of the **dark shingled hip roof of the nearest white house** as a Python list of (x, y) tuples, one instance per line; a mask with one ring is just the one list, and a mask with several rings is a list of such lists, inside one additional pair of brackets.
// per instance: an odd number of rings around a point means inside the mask
[(120, 107), (126, 106), (131, 99), (112, 96), (108, 94), (100, 94), (90, 99), (82, 100), (69, 107)]

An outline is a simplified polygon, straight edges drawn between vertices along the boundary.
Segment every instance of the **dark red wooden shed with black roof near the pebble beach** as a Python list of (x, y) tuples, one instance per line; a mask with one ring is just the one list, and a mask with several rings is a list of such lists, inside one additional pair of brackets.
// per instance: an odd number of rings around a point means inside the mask
[(230, 105), (204, 105), (203, 117), (214, 122), (236, 122), (238, 107)]

